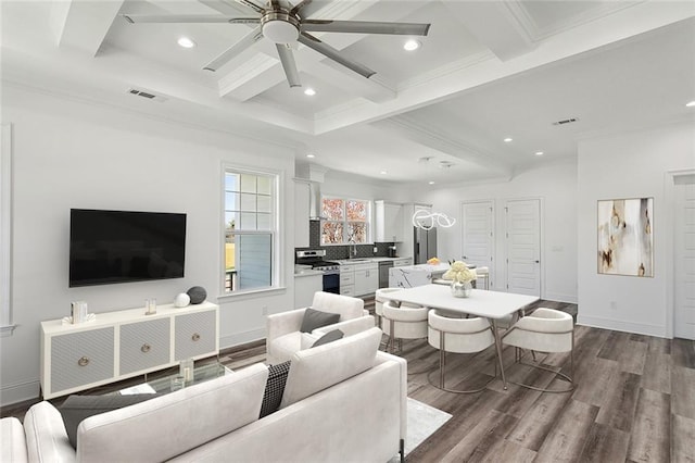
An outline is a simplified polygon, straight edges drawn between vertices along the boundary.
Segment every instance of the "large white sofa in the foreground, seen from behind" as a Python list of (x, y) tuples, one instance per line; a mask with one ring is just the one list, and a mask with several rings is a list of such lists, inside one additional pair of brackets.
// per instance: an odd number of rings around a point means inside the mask
[(0, 461), (383, 463), (403, 449), (407, 366), (380, 340), (371, 328), (296, 352), (280, 409), (263, 418), (264, 364), (88, 417), (76, 450), (40, 402), (23, 426), (2, 420)]

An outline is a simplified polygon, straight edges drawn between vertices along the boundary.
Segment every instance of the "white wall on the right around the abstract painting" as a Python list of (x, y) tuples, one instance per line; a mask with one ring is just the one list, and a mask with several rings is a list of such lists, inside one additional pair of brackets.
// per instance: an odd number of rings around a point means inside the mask
[[(670, 337), (672, 203), (669, 171), (695, 168), (695, 124), (579, 143), (579, 323)], [(654, 278), (597, 273), (597, 201), (654, 198)]]

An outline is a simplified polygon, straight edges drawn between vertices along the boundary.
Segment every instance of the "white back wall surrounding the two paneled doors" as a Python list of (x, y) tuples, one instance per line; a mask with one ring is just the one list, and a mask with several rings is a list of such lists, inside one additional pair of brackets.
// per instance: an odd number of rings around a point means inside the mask
[(541, 296), (555, 301), (577, 302), (577, 166), (559, 163), (525, 172), (509, 182), (448, 187), (430, 191), (418, 202), (432, 203), (433, 210), (456, 217), (451, 228), (439, 228), (440, 259), (460, 259), (464, 201), (493, 200), (495, 208), (496, 289), (506, 280), (504, 273), (505, 213), (511, 199), (541, 201)]

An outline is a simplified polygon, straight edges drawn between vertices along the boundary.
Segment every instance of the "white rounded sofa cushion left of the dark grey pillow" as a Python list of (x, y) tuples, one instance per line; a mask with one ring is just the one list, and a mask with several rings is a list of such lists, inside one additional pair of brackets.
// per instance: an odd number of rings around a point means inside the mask
[(24, 415), (27, 455), (30, 462), (75, 461), (63, 417), (51, 402), (39, 402)]

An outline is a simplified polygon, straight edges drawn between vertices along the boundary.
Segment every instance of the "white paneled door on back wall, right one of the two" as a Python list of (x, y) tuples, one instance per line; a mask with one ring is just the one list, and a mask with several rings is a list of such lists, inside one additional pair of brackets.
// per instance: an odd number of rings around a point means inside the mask
[(507, 291), (541, 296), (541, 202), (508, 201), (506, 213)]

